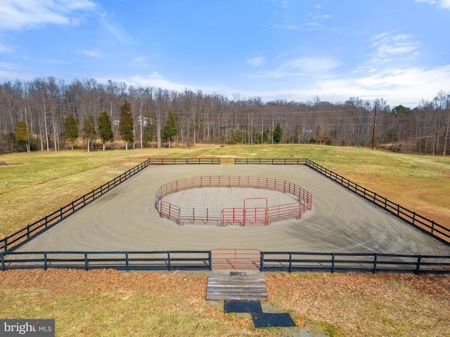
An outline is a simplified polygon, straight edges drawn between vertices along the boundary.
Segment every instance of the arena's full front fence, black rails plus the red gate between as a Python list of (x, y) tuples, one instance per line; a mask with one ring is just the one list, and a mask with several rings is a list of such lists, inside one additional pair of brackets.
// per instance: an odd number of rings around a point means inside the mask
[[(14, 251), (0, 253), (1, 270), (117, 269), (212, 270), (254, 269), (262, 272), (360, 272), (450, 275), (450, 256), (385, 253), (309, 253), (290, 251)], [(215, 267), (214, 267), (215, 265)]]

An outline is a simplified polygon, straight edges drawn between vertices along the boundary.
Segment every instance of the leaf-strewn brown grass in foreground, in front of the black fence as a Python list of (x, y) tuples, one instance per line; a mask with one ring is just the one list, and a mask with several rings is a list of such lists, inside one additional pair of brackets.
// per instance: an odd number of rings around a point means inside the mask
[[(57, 336), (284, 336), (225, 315), (206, 284), (206, 272), (10, 270), (0, 317), (53, 318)], [(270, 303), (328, 336), (450, 336), (450, 277), (266, 273), (266, 284)]]

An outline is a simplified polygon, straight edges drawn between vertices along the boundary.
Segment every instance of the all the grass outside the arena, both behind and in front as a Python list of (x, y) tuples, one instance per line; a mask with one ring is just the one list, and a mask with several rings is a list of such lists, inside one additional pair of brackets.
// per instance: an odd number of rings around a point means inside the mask
[[(3, 154), (0, 237), (149, 157), (308, 158), (450, 225), (450, 157), (319, 145), (202, 146)], [(206, 282), (205, 272), (1, 272), (0, 318), (55, 318), (56, 336), (286, 335), (255, 329), (249, 315), (224, 315), (205, 300)], [(271, 303), (328, 336), (450, 336), (450, 277), (268, 273), (266, 282)]]

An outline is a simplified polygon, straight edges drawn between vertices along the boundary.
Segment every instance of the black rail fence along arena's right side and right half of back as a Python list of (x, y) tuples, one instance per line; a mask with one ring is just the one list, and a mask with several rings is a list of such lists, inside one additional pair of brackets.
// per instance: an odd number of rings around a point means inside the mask
[(255, 159), (255, 158), (241, 158), (235, 159), (235, 164), (303, 164), (308, 166), (314, 171), (321, 173), (323, 176), (339, 183), (340, 185), (346, 187), (348, 190), (358, 194), (360, 197), (370, 201), (372, 204), (388, 211), (397, 218), (403, 220), (404, 222), (416, 227), (418, 230), (425, 232), (431, 237), (443, 242), (444, 244), (450, 245), (450, 229), (439, 225), (434, 220), (425, 218), (415, 211), (406, 209), (406, 207), (401, 206), (390, 199), (382, 197), (376, 192), (366, 189), (347, 178), (340, 176), (338, 173), (330, 171), (325, 167), (316, 164), (314, 161), (309, 159)]

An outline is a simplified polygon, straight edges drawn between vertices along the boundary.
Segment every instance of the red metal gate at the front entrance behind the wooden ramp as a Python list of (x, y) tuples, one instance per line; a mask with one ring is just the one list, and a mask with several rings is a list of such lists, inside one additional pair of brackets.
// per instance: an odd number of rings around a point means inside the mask
[(259, 249), (211, 249), (212, 269), (250, 270), (261, 266)]

